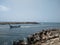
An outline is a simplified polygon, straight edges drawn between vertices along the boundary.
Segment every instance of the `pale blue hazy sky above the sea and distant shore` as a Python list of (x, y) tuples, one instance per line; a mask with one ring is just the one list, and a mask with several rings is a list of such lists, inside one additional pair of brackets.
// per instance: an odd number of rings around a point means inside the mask
[(60, 22), (60, 0), (0, 0), (0, 22)]

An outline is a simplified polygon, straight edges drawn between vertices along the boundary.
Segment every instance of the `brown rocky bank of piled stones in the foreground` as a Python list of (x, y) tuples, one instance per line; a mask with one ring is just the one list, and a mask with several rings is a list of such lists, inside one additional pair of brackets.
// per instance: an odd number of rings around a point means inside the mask
[(47, 29), (29, 35), (27, 41), (19, 40), (13, 45), (60, 45), (60, 30)]

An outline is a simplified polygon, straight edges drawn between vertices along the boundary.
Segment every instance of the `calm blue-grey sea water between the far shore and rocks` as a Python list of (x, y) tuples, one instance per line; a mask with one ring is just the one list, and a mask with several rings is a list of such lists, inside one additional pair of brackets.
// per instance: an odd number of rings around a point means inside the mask
[(12, 45), (13, 41), (24, 39), (30, 34), (39, 32), (42, 29), (60, 29), (60, 23), (40, 24), (12, 24), (21, 25), (20, 28), (10, 28), (9, 25), (0, 25), (0, 45)]

